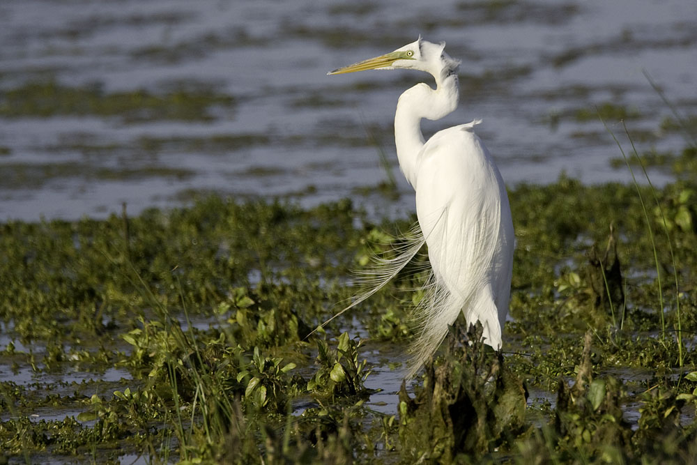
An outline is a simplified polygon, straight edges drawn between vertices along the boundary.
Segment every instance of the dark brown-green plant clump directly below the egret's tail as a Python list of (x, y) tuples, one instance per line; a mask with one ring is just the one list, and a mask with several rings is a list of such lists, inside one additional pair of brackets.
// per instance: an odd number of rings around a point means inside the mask
[[(467, 340), (469, 345), (458, 346)], [(452, 463), (480, 457), (525, 429), (526, 390), (503, 356), (482, 342), (482, 325), (451, 330), (438, 366), (428, 366), (414, 399), (399, 391), (399, 439), (405, 462)]]

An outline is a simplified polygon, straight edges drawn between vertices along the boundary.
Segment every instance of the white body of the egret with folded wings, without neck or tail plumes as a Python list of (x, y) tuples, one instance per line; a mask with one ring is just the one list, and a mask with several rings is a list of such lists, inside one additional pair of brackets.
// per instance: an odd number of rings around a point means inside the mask
[(463, 305), (492, 284), (502, 185), (470, 125), (437, 132), (420, 153), (416, 211), (429, 259), (438, 280)]

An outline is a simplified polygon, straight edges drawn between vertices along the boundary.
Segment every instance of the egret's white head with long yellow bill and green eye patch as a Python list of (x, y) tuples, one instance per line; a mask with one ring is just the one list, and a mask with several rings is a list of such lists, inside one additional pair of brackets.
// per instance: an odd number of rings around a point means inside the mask
[(353, 65), (330, 71), (327, 74), (338, 75), (365, 70), (410, 69), (425, 71), (438, 80), (447, 74), (454, 73), (460, 64), (459, 60), (450, 58), (443, 49), (445, 49), (445, 42), (434, 44), (423, 40), (419, 36), (415, 42), (404, 45), (404, 47), (398, 48), (394, 52), (359, 61)]

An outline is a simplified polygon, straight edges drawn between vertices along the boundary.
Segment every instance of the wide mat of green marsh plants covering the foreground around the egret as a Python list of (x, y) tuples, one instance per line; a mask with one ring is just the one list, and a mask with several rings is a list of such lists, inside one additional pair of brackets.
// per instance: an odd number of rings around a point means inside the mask
[(518, 248), (503, 353), (471, 333), (456, 344), (454, 329), (393, 406), (372, 402), (373, 380), (388, 382), (374, 367), (403, 360), (370, 354), (406, 350), (418, 331), (418, 264), (310, 333), (353, 294), (348, 270), (392, 253), (413, 218), (210, 196), (0, 224), (1, 457), (679, 463), (697, 448), (691, 192), (687, 179), (589, 187), (566, 176), (510, 190)]

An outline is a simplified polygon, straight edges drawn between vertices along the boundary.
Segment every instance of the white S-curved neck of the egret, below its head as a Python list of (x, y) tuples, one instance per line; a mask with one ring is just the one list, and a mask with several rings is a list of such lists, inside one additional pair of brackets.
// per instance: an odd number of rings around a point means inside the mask
[(436, 90), (420, 83), (407, 89), (399, 97), (395, 113), (395, 144), (399, 167), (406, 180), (416, 189), (418, 155), (425, 141), (421, 119), (441, 119), (457, 107), (459, 89), (457, 75), (452, 73), (436, 78)]

